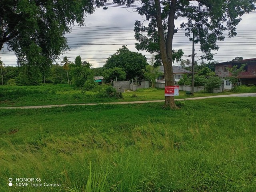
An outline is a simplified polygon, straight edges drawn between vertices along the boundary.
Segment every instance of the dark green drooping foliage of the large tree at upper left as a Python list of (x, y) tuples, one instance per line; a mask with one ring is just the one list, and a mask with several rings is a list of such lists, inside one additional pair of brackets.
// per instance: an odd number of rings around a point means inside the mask
[[(1, 0), (0, 50), (6, 43), (18, 64), (28, 65), (27, 55), (35, 52), (42, 73), (68, 49), (65, 33), (74, 23), (84, 24), (86, 14), (106, 0)], [(31, 55), (30, 55), (31, 57)], [(40, 57), (40, 60), (38, 58)], [(34, 63), (32, 63), (34, 64)]]

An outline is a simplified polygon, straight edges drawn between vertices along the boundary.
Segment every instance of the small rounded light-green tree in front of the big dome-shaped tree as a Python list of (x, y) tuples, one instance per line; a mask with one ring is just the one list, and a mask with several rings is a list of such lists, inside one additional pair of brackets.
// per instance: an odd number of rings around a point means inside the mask
[(104, 70), (103, 77), (106, 82), (110, 82), (116, 78), (118, 81), (123, 81), (126, 79), (126, 72), (123, 70), (123, 68), (114, 67)]

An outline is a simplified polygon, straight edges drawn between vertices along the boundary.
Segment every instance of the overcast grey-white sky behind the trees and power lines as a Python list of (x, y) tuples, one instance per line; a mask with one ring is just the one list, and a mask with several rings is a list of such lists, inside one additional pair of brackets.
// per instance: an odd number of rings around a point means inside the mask
[[(116, 50), (127, 45), (131, 51), (140, 52), (146, 56), (148, 62), (152, 54), (146, 51), (138, 51), (135, 48), (134, 39), (134, 23), (136, 20), (145, 20), (144, 16), (140, 16), (135, 9), (108, 7), (108, 10), (99, 8), (94, 14), (88, 15), (85, 20), (86, 26), (74, 26), (70, 34), (66, 34), (70, 51), (60, 55), (60, 59), (56, 63), (60, 63), (64, 56), (68, 56), (69, 60), (74, 62), (76, 56), (81, 56), (82, 62), (87, 61), (92, 67), (102, 67), (109, 56), (116, 53)], [(218, 62), (230, 61), (236, 56), (244, 59), (256, 58), (256, 12), (245, 14), (242, 21), (237, 26), (237, 36), (234, 38), (226, 38), (222, 42), (218, 42), (220, 47), (218, 51), (214, 51), (214, 60)], [(180, 27), (182, 20), (176, 20), (175, 26)], [(145, 22), (146, 24), (146, 22)], [(195, 45), (195, 60), (201, 62), (199, 44)], [(8, 65), (16, 65), (16, 56), (5, 48), (1, 50), (0, 57), (2, 62)], [(184, 55), (183, 60), (191, 59), (192, 42), (184, 36), (183, 30), (178, 30), (174, 35), (173, 49), (182, 49)], [(179, 63), (174, 63), (179, 65)]]

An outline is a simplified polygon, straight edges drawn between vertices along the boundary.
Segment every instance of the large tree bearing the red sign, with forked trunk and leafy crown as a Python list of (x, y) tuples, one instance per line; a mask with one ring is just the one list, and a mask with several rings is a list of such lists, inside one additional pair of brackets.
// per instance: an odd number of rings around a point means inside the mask
[[(118, 4), (128, 4), (134, 0), (114, 0)], [(255, 10), (256, 0), (141, 0), (137, 8), (140, 15), (145, 15), (148, 26), (140, 21), (135, 23), (135, 38), (140, 43), (136, 47), (149, 52), (160, 52), (164, 66), (166, 86), (174, 85), (172, 63), (174, 60), (172, 41), (178, 28), (174, 21), (178, 18), (186, 20), (181, 28), (186, 36), (195, 43), (200, 43), (204, 58), (211, 59), (211, 50), (218, 50), (216, 42), (224, 40), (224, 31), (228, 37), (236, 35), (236, 26), (240, 16)], [(179, 55), (179, 54), (178, 54)], [(165, 105), (176, 108), (174, 96), (165, 99)]]

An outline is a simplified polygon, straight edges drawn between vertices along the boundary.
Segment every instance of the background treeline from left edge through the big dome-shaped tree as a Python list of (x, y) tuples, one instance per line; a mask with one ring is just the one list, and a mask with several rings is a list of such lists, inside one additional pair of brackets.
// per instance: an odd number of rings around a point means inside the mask
[[(43, 67), (47, 66), (47, 67)], [(2, 84), (4, 85), (40, 85), (73, 84), (78, 87), (93, 87), (93, 76), (103, 76), (105, 82), (111, 80), (130, 80), (137, 77), (144, 78), (144, 70), (148, 66), (146, 57), (141, 53), (132, 52), (122, 46), (117, 52), (108, 57), (106, 64), (101, 68), (91, 68), (89, 62), (77, 56), (75, 62), (64, 57), (61, 64), (40, 65), (28, 63), (21, 66), (4, 66), (1, 63)]]

